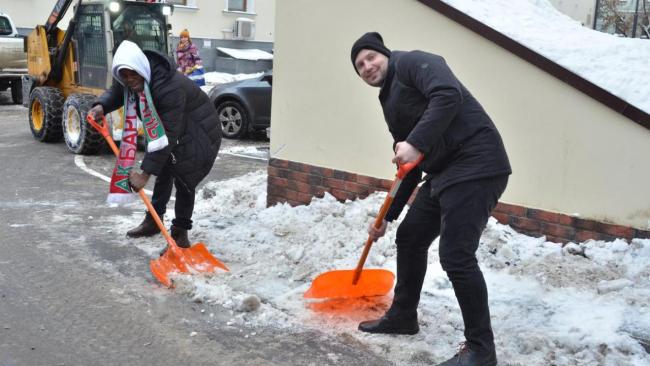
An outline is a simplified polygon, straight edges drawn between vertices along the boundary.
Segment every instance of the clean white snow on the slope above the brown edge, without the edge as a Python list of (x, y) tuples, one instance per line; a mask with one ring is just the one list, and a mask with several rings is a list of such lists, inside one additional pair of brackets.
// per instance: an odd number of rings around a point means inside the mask
[(650, 41), (583, 27), (548, 0), (443, 0), (650, 113)]

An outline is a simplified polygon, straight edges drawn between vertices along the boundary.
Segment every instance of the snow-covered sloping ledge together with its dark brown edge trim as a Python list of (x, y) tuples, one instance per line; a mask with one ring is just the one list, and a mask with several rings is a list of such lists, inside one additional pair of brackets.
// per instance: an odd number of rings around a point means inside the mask
[(547, 0), (418, 0), (650, 129), (650, 41), (583, 27)]

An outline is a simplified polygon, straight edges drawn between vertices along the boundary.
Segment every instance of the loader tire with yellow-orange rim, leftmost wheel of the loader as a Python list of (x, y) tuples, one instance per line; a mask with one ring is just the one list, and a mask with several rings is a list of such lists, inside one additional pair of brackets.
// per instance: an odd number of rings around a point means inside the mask
[(61, 140), (63, 93), (57, 88), (39, 86), (29, 95), (29, 128), (41, 142)]

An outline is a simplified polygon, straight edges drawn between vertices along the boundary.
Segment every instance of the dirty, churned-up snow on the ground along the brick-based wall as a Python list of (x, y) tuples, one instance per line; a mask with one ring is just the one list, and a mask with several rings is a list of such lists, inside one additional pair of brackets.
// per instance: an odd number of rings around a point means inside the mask
[[(380, 316), (389, 297), (308, 301), (312, 279), (354, 268), (366, 227), (385, 193), (309, 206), (266, 208), (263, 171), (208, 183), (197, 193), (193, 241), (205, 242), (230, 272), (179, 276), (178, 293), (206, 312), (229, 311), (230, 327), (319, 329), (368, 347), (397, 365), (436, 364), (463, 340), (462, 319), (450, 282), (438, 264), (437, 242), (415, 336), (369, 335), (359, 321)], [(118, 230), (141, 218), (115, 217)], [(137, 216), (137, 217), (136, 217)], [(397, 224), (372, 248), (368, 267), (395, 268)], [(152, 257), (160, 237), (134, 240)], [(500, 365), (650, 365), (650, 240), (588, 241), (562, 248), (517, 234), (491, 219), (478, 252), (489, 293)], [(240, 328), (241, 329), (241, 328)], [(251, 333), (254, 337), (254, 332)]]

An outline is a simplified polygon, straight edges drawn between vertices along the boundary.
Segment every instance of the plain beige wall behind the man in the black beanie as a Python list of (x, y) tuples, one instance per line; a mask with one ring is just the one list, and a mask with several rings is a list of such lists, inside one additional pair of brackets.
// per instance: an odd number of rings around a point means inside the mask
[(392, 178), (379, 89), (350, 60), (379, 31), (444, 56), (483, 104), (514, 171), (504, 202), (650, 227), (650, 130), (415, 0), (283, 0), (276, 14), (272, 157)]

